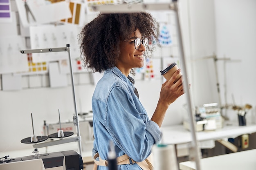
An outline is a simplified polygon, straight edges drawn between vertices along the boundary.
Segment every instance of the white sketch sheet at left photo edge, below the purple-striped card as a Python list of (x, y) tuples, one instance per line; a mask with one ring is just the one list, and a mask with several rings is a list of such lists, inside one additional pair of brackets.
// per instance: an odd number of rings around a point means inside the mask
[(20, 50), (25, 49), (25, 39), (21, 36), (1, 36), (0, 74), (28, 71), (27, 56)]

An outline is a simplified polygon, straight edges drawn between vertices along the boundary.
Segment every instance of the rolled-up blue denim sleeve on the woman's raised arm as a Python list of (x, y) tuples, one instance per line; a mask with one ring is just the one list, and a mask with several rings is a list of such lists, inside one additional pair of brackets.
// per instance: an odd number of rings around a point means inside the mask
[(127, 88), (113, 88), (107, 99), (105, 126), (123, 152), (143, 161), (161, 140), (162, 132), (155, 122), (147, 121), (146, 110), (136, 99)]

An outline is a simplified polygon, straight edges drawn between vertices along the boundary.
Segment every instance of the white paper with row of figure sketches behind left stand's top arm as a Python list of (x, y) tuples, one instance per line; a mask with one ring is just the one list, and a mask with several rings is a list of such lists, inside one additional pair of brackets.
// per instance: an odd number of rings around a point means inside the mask
[[(72, 59), (80, 57), (78, 39), (80, 27), (72, 24), (30, 26), (31, 49), (47, 49), (65, 47), (70, 44)], [(33, 53), (33, 62), (49, 62), (67, 60), (65, 52)]]

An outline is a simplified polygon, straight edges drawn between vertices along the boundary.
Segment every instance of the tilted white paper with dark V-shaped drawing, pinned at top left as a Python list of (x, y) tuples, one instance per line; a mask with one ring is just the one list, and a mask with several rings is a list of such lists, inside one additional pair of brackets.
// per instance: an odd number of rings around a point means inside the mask
[(15, 2), (24, 27), (72, 17), (69, 3), (66, 1), (49, 3), (47, 0), (15, 0)]

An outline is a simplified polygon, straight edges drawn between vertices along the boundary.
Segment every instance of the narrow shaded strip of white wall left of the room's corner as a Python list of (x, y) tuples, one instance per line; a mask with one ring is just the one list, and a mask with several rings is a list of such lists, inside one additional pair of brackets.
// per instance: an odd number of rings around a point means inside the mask
[(216, 52), (213, 0), (190, 0), (190, 46), (188, 64), (192, 70), (192, 92), (195, 106), (218, 102), (213, 59), (204, 57)]

